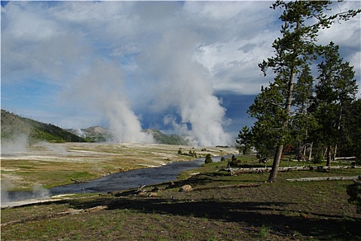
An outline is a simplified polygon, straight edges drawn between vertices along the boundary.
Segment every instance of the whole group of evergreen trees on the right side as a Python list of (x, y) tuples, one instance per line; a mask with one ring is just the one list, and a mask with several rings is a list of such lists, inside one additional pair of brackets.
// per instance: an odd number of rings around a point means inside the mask
[(256, 118), (243, 127), (237, 143), (247, 153), (254, 148), (261, 158), (274, 158), (268, 182), (276, 180), (285, 149), (298, 159), (330, 165), (340, 153), (361, 160), (361, 100), (356, 98), (355, 71), (340, 57), (339, 46), (318, 43), (318, 32), (333, 23), (348, 21), (361, 12), (327, 14), (333, 1), (276, 1), (281, 37), (272, 45), (274, 56), (259, 64), (274, 72), (261, 87), (247, 113)]

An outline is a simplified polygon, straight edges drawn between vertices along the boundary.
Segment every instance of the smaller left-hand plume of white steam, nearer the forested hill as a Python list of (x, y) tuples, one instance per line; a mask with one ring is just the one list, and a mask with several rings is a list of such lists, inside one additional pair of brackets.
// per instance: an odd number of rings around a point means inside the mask
[(65, 93), (79, 105), (103, 116), (115, 141), (119, 143), (153, 143), (153, 136), (142, 132), (141, 123), (132, 111), (117, 63), (97, 60), (90, 70), (74, 80)]

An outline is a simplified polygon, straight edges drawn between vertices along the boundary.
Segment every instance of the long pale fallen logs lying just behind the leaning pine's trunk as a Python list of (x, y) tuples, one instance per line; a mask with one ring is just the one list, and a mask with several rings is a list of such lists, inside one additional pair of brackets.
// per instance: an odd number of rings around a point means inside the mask
[[(351, 168), (361, 168), (353, 166), (332, 166), (332, 167), (278, 167), (278, 171), (309, 171), (309, 170), (319, 170), (327, 171), (329, 169), (351, 169)], [(251, 167), (251, 168), (238, 168), (231, 169), (229, 174), (234, 176), (236, 174), (249, 174), (249, 173), (263, 173), (271, 171), (272, 167)]]

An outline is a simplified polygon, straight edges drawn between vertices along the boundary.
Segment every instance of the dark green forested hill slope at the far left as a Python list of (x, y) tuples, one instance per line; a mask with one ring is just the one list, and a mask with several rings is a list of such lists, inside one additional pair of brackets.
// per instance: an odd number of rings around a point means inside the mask
[(55, 125), (34, 121), (1, 109), (1, 139), (12, 139), (18, 136), (28, 136), (30, 143), (39, 140), (45, 140), (50, 143), (83, 143), (90, 141)]

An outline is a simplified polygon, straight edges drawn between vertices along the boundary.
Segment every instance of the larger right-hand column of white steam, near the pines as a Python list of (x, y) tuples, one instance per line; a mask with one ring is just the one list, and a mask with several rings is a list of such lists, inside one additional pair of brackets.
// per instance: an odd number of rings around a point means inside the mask
[(150, 66), (147, 76), (158, 81), (152, 90), (154, 109), (162, 111), (169, 106), (176, 107), (180, 123), (174, 118), (169, 120), (169, 116), (164, 123), (178, 127), (176, 129), (182, 134), (194, 136), (198, 145), (229, 145), (231, 136), (223, 129), (227, 124), (225, 108), (214, 96), (209, 73), (192, 58), (197, 41), (196, 34), (187, 30), (169, 31), (141, 56), (141, 61)]

